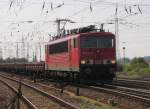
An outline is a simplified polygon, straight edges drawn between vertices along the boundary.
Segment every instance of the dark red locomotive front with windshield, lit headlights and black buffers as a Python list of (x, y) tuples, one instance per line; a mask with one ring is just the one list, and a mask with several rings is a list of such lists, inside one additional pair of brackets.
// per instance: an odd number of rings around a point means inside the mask
[(106, 32), (83, 35), (80, 48), (81, 76), (112, 81), (116, 72), (115, 36)]

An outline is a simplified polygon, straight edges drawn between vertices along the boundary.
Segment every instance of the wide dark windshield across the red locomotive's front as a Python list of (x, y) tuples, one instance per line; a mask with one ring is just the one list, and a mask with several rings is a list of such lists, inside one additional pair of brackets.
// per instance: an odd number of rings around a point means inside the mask
[(81, 38), (81, 48), (112, 48), (113, 38), (110, 37), (84, 37)]

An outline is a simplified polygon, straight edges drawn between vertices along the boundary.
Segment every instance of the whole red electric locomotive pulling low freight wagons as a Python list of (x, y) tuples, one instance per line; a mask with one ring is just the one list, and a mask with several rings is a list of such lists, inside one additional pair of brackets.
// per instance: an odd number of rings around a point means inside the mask
[(104, 31), (79, 31), (46, 44), (46, 71), (55, 76), (67, 74), (83, 79), (113, 80), (116, 72), (115, 35)]

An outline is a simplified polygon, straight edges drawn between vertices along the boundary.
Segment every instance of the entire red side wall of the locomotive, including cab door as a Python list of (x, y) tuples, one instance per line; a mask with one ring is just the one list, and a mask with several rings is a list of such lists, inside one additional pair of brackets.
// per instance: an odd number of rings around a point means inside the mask
[[(66, 39), (64, 38), (63, 40), (58, 39), (58, 42), (46, 45), (46, 70), (79, 72), (77, 37), (78, 36), (71, 36)], [(74, 41), (76, 42), (76, 45), (74, 45)]]

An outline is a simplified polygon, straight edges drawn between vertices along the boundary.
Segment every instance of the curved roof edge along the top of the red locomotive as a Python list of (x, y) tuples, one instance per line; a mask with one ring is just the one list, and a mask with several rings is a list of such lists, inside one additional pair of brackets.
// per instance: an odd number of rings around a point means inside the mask
[(55, 44), (55, 43), (59, 43), (59, 42), (63, 42), (63, 41), (67, 41), (69, 39), (73, 39), (73, 38), (77, 38), (77, 37), (90, 37), (91, 35), (94, 36), (98, 36), (101, 37), (99, 35), (102, 35), (102, 37), (115, 37), (115, 35), (111, 32), (87, 32), (87, 33), (79, 33), (79, 34), (69, 34), (69, 35), (65, 35), (65, 36), (56, 36), (56, 39), (53, 39), (51, 41), (49, 41), (46, 45), (51, 45), (51, 44)]

